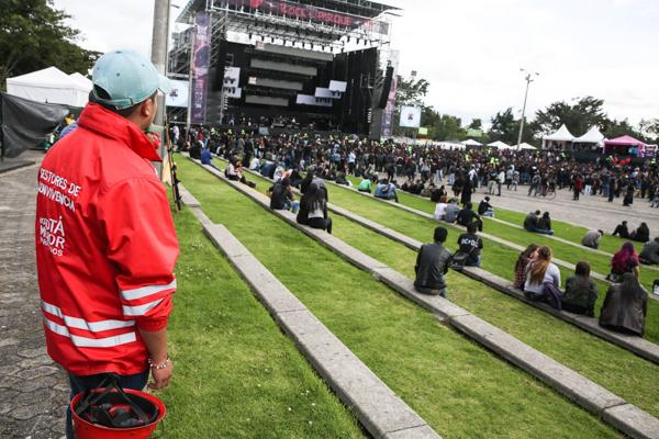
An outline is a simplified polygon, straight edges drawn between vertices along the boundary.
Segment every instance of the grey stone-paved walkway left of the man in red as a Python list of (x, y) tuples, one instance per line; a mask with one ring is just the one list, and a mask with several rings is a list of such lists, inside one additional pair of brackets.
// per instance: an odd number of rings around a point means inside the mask
[[(42, 154), (25, 153), (41, 160)], [(60, 438), (68, 385), (46, 354), (34, 260), (36, 166), (0, 175), (0, 438)]]

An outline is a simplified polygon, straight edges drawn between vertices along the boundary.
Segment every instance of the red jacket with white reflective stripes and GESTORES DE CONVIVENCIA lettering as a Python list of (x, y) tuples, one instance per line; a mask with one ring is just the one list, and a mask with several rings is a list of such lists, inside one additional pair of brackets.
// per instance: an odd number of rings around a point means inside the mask
[(134, 123), (90, 103), (37, 175), (46, 345), (72, 374), (145, 371), (137, 329), (167, 326), (178, 241), (149, 160), (160, 158)]

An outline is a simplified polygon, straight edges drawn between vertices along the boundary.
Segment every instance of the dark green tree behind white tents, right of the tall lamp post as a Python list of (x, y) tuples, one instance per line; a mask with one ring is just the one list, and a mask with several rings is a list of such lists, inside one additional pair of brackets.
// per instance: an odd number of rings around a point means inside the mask
[(570, 133), (581, 135), (591, 126), (606, 125), (607, 117), (603, 105), (602, 99), (593, 97), (581, 98), (572, 105), (567, 102), (554, 102), (536, 113), (534, 126), (540, 134), (549, 134), (565, 124)]

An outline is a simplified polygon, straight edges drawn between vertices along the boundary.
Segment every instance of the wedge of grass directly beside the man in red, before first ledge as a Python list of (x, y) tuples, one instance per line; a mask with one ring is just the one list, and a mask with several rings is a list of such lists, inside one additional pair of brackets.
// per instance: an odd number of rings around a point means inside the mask
[[(362, 438), (350, 412), (183, 209), (164, 438)], [(160, 429), (158, 429), (159, 431)]]

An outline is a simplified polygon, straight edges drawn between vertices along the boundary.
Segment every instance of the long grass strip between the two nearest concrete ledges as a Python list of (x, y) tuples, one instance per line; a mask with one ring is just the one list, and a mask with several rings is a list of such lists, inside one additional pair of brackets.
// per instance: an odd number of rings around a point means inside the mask
[(178, 166), (211, 219), (228, 227), (443, 437), (619, 436), (197, 165), (179, 159)]

